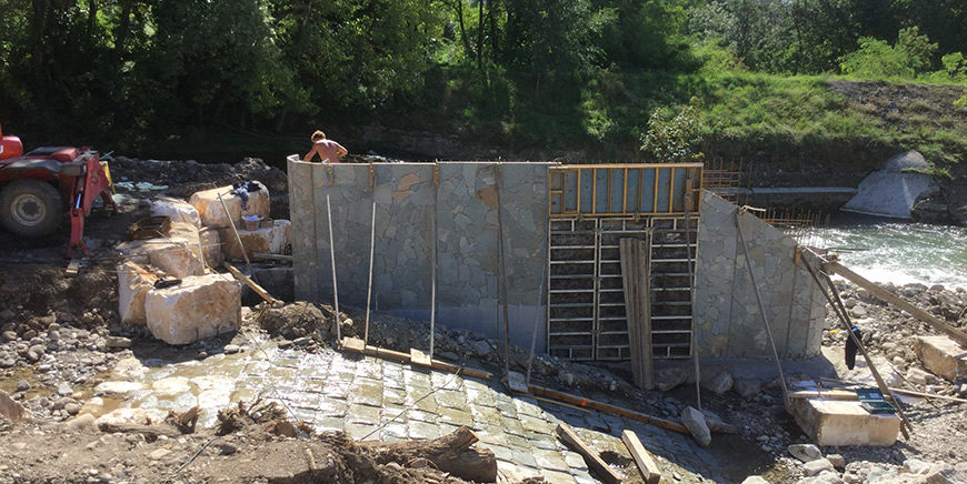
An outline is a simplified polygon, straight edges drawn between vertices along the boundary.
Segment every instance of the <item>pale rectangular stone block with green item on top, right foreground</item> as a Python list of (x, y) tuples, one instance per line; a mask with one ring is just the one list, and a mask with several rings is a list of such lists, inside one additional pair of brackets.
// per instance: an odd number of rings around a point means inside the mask
[(893, 445), (900, 431), (894, 414), (870, 414), (857, 401), (791, 399), (787, 410), (818, 445)]

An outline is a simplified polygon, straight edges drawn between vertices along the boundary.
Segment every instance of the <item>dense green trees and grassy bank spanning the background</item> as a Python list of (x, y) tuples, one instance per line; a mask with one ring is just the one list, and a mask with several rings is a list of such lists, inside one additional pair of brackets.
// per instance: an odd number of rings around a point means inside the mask
[(31, 145), (382, 123), (596, 158), (639, 155), (642, 133), (656, 159), (967, 152), (963, 120), (886, 122), (800, 77), (967, 83), (963, 0), (2, 4), (0, 121)]

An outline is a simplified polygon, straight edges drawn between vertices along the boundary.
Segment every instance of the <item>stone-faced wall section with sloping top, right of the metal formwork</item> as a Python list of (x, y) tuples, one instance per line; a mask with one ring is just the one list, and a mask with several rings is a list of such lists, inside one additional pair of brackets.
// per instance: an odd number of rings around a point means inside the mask
[[(695, 307), (702, 356), (771, 357), (741, 241), (738, 206), (705, 192), (698, 229)], [(805, 266), (796, 264), (796, 241), (750, 214), (739, 215), (756, 282), (779, 357), (819, 354), (826, 300)], [(818, 268), (808, 251), (802, 256)]]

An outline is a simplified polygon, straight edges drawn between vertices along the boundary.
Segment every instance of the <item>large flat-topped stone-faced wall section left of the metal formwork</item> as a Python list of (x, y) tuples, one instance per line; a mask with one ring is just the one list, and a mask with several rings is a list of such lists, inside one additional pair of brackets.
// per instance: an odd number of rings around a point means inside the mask
[[(497, 300), (500, 206), (511, 341), (529, 347), (537, 324), (537, 349), (544, 351), (547, 309), (539, 288), (547, 256), (548, 165), (376, 163), (375, 186), (369, 164), (331, 165), (328, 192), (340, 303), (366, 306), (375, 195), (373, 306), (429, 320), (436, 212), (438, 324), (502, 335)], [(331, 302), (326, 167), (289, 158), (288, 168), (296, 298)]]

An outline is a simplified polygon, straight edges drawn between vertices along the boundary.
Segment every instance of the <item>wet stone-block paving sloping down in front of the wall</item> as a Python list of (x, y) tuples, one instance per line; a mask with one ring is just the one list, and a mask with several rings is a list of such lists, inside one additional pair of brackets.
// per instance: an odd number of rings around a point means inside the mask
[(120, 406), (163, 417), (169, 410), (199, 405), (199, 425), (212, 426), (218, 410), (262, 394), (269, 400), (278, 397), (297, 419), (319, 432), (401, 441), (435, 438), (467, 425), (480, 437), (478, 445), (494, 451), (504, 476), (597, 482), (581, 456), (556, 438), (555, 427), (564, 421), (594, 448), (626, 456), (619, 436), (625, 428), (634, 430), (658, 456), (669, 478), (698, 482), (704, 475), (722, 481), (717, 475), (721, 465), (711, 452), (684, 435), (599, 412), (510, 396), (496, 382), (369, 356), (271, 347), (203, 361), (140, 355), (119, 363), (113, 377), (118, 381), (98, 389), (101, 395), (112, 396), (91, 399), (84, 412), (99, 414)]

